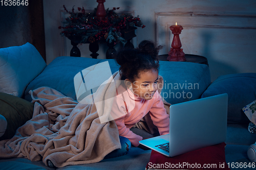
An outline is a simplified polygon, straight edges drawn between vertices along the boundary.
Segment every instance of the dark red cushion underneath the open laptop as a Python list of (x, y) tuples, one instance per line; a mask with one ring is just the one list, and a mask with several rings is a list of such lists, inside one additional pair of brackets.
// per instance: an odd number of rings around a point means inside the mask
[(225, 143), (219, 143), (175, 157), (154, 150), (146, 169), (230, 169), (225, 160)]

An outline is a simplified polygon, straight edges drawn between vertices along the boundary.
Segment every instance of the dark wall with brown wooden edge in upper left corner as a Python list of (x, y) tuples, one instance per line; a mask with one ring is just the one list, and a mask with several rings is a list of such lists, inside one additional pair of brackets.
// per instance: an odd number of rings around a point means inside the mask
[(46, 60), (44, 9), (42, 0), (28, 6), (0, 5), (0, 48), (33, 44)]

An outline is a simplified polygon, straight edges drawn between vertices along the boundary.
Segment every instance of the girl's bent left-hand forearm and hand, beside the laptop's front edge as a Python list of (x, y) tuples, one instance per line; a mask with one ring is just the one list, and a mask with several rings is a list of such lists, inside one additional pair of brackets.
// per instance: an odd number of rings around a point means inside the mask
[(128, 138), (131, 141), (132, 145), (138, 147), (139, 141), (143, 138), (133, 133), (129, 128), (124, 125), (124, 116), (115, 119), (115, 122), (118, 128), (119, 135)]

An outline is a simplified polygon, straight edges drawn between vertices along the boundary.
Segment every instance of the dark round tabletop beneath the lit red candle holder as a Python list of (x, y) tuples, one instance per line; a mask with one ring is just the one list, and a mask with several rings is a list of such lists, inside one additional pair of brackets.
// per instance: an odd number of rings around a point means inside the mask
[[(167, 60), (167, 57), (168, 57), (168, 54), (159, 55), (159, 61), (169, 61)], [(186, 58), (185, 62), (200, 63), (200, 64), (208, 65), (207, 58), (203, 56), (185, 54), (185, 58)], [(175, 61), (169, 61), (169, 62), (175, 62)]]

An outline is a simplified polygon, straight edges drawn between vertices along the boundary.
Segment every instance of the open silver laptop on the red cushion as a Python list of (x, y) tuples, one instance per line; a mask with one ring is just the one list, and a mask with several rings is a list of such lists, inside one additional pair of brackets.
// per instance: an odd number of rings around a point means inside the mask
[(139, 143), (173, 157), (226, 140), (227, 93), (174, 104), (170, 110), (169, 134)]

